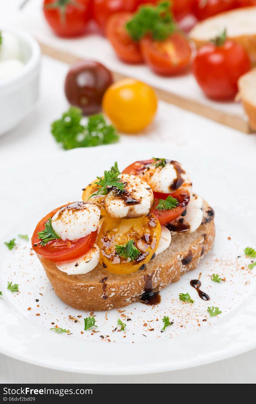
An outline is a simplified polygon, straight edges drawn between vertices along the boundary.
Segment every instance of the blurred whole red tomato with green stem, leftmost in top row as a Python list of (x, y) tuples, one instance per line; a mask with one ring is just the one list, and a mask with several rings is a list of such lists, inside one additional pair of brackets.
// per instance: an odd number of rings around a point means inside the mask
[(58, 36), (84, 34), (92, 17), (91, 0), (44, 0), (46, 21)]

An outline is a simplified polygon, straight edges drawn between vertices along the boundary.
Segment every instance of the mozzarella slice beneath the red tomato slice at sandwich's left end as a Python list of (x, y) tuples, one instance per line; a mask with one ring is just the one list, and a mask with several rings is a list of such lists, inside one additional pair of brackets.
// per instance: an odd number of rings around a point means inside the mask
[(80, 275), (92, 271), (97, 266), (99, 259), (100, 249), (96, 244), (93, 244), (82, 257), (71, 261), (56, 262), (55, 264), (60, 271), (67, 275)]

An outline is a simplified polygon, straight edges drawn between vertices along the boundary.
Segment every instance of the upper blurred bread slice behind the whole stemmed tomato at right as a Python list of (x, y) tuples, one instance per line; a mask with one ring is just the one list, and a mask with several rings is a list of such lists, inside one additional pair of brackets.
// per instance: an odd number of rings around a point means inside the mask
[(241, 44), (256, 65), (256, 6), (237, 8), (207, 18), (195, 25), (189, 36), (200, 48), (227, 29), (227, 37)]

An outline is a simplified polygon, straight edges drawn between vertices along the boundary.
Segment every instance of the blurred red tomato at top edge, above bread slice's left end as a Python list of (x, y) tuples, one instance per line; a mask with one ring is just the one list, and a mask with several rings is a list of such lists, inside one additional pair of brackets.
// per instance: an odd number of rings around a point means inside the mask
[(193, 13), (199, 20), (211, 17), (222, 11), (235, 8), (236, 0), (195, 0), (193, 2)]

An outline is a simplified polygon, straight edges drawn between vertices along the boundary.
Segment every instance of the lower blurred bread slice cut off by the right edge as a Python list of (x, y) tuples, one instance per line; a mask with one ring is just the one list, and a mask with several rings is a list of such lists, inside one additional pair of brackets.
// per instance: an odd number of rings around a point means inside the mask
[(250, 126), (256, 130), (256, 68), (243, 74), (237, 84), (239, 98), (241, 98), (243, 108), (248, 115)]

